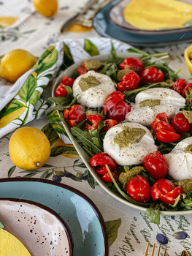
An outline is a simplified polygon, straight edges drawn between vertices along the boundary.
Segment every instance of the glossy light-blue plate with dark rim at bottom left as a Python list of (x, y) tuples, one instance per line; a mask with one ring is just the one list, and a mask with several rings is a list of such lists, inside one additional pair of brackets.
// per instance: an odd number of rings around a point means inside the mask
[(72, 233), (74, 256), (109, 255), (104, 219), (82, 192), (41, 178), (0, 178), (0, 183), (1, 197), (31, 200), (58, 213)]

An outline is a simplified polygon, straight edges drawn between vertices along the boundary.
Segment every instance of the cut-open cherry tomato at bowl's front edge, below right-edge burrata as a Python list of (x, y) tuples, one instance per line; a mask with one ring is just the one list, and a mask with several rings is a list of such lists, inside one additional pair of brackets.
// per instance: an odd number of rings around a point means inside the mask
[(166, 205), (174, 204), (174, 200), (183, 193), (182, 187), (175, 188), (172, 181), (166, 178), (161, 178), (151, 187), (151, 197), (153, 200), (160, 199)]

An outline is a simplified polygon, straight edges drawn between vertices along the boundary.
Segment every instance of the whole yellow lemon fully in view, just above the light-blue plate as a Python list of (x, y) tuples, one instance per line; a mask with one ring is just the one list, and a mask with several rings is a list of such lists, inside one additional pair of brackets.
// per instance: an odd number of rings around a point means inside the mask
[(50, 142), (40, 129), (18, 128), (9, 140), (9, 156), (20, 169), (37, 169), (50, 157)]

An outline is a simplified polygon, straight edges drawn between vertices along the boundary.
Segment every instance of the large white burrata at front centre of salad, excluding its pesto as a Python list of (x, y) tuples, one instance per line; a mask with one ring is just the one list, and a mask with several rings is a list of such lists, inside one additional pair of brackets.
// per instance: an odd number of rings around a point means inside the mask
[[(145, 135), (142, 136), (139, 142), (128, 143), (126, 147), (120, 147), (115, 143), (114, 138), (126, 127), (139, 128), (145, 130)], [(104, 137), (104, 152), (110, 155), (118, 165), (140, 165), (143, 159), (157, 150), (155, 141), (149, 129), (142, 124), (123, 123), (110, 128)]]

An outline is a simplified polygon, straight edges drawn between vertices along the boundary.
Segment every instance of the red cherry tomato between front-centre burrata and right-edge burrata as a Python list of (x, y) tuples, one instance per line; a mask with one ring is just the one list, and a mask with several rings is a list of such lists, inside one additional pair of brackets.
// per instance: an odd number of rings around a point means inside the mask
[(149, 173), (152, 178), (155, 178), (155, 180), (166, 176), (168, 164), (159, 151), (147, 155), (143, 160), (143, 165), (147, 173)]

